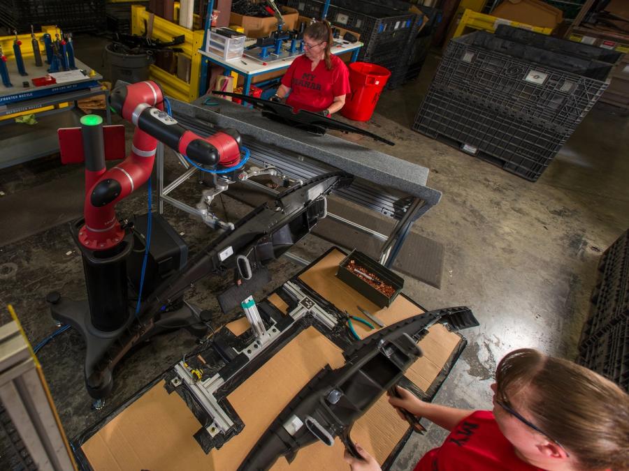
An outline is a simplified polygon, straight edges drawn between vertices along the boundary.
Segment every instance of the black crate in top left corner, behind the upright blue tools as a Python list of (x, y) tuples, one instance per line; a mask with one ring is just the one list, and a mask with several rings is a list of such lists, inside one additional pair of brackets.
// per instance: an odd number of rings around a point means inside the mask
[(44, 25), (98, 31), (105, 22), (105, 0), (0, 0), (0, 24), (18, 33), (30, 33), (31, 24), (36, 31)]

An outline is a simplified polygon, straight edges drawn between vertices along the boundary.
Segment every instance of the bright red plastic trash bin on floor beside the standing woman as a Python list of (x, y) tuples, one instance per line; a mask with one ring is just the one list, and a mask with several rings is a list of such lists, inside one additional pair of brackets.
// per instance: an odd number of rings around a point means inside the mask
[(391, 71), (375, 63), (350, 63), (349, 87), (352, 91), (345, 98), (340, 114), (354, 121), (368, 121), (389, 77)]

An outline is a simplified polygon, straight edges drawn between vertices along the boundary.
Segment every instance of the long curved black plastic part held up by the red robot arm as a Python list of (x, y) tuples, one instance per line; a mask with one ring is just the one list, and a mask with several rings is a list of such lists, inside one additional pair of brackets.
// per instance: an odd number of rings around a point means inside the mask
[(87, 378), (90, 394), (94, 397), (108, 394), (117, 362), (143, 338), (150, 336), (161, 315), (175, 308), (194, 283), (210, 274), (236, 269), (238, 257), (249, 260), (252, 276), (255, 276), (259, 267), (282, 255), (317, 225), (325, 214), (324, 197), (334, 188), (351, 184), (352, 178), (345, 172), (313, 177), (279, 195), (274, 206), (265, 203), (257, 207), (241, 218), (231, 232), (212, 241), (147, 298), (133, 324), (94, 365), (94, 371)]

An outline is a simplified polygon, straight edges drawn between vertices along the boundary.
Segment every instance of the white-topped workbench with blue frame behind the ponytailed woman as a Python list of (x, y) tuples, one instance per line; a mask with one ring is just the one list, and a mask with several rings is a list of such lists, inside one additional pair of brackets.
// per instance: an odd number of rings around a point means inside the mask
[[(358, 59), (358, 54), (361, 50), (361, 47), (363, 47), (363, 43), (361, 42), (356, 42), (353, 44), (352, 43), (348, 43), (348, 44), (335, 43), (335, 45), (333, 45), (333, 47), (331, 48), (331, 52), (332, 54), (335, 54), (335, 55), (351, 52), (352, 57), (351, 59), (349, 59), (349, 61), (356, 62), (356, 59)], [(199, 50), (198, 52), (202, 56), (201, 57), (201, 63), (202, 63), (201, 84), (204, 84), (207, 82), (208, 77), (203, 76), (203, 73), (207, 74), (207, 71), (208, 71), (207, 62), (210, 62), (224, 68), (225, 69), (224, 75), (231, 75), (232, 72), (236, 72), (240, 75), (243, 75), (243, 77), (245, 77), (245, 83), (243, 84), (243, 94), (245, 95), (249, 94), (249, 88), (251, 86), (253, 77), (272, 73), (272, 72), (278, 72), (281, 70), (286, 70), (287, 68), (289, 68), (291, 63), (293, 63), (293, 61), (297, 57), (299, 57), (298, 55), (296, 55), (294, 57), (289, 57), (282, 61), (265, 62), (264, 59), (256, 60), (250, 57), (242, 57), (240, 59), (226, 60), (226, 59), (222, 59), (216, 54), (205, 52), (204, 50)]]

